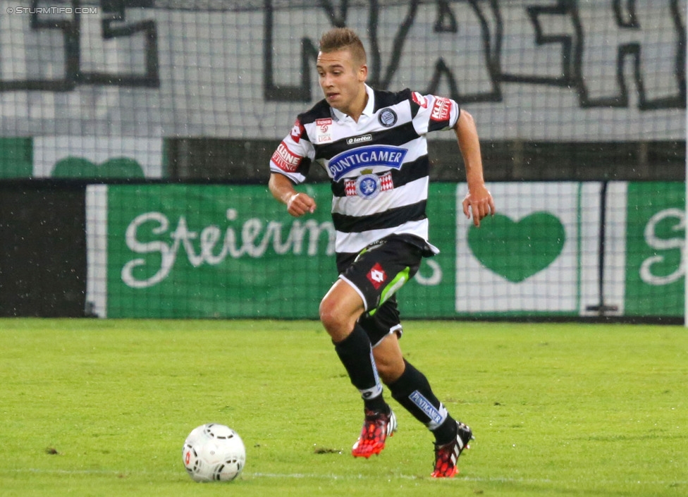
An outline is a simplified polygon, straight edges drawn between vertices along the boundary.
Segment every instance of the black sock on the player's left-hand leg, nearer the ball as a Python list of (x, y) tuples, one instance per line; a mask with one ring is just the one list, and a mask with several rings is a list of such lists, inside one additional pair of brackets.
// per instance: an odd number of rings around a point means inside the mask
[(351, 383), (360, 391), (365, 408), (374, 411), (388, 410), (382, 397), (382, 383), (375, 367), (370, 339), (360, 324), (356, 324), (348, 337), (335, 343), (334, 349), (344, 364)]

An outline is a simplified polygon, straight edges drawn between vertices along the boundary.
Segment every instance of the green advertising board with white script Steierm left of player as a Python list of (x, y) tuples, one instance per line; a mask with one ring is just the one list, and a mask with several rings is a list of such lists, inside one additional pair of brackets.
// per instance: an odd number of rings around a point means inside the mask
[(328, 185), (295, 219), (263, 186), (108, 191), (109, 317), (317, 317), (334, 281)]

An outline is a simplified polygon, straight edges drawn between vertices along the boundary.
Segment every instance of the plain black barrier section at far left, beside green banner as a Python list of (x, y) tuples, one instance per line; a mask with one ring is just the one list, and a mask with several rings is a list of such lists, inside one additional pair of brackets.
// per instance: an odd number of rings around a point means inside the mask
[(86, 185), (0, 182), (0, 317), (82, 317)]

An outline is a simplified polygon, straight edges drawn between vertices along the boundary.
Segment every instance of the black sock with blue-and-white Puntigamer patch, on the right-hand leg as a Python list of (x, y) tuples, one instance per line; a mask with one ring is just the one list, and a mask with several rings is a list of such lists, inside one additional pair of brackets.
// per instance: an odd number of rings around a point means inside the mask
[(425, 375), (406, 360), (404, 362), (403, 374), (388, 385), (392, 397), (432, 431), (436, 443), (442, 445), (452, 441), (457, 431), (455, 420), (432, 392)]

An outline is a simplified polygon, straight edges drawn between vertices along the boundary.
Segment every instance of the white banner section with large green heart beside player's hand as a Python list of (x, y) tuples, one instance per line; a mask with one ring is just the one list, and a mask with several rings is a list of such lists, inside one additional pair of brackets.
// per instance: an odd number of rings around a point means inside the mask
[[(461, 190), (461, 188), (460, 188)], [(456, 312), (579, 314), (599, 245), (599, 183), (499, 183), (498, 213), (457, 223)], [(457, 210), (463, 197), (457, 193)]]

